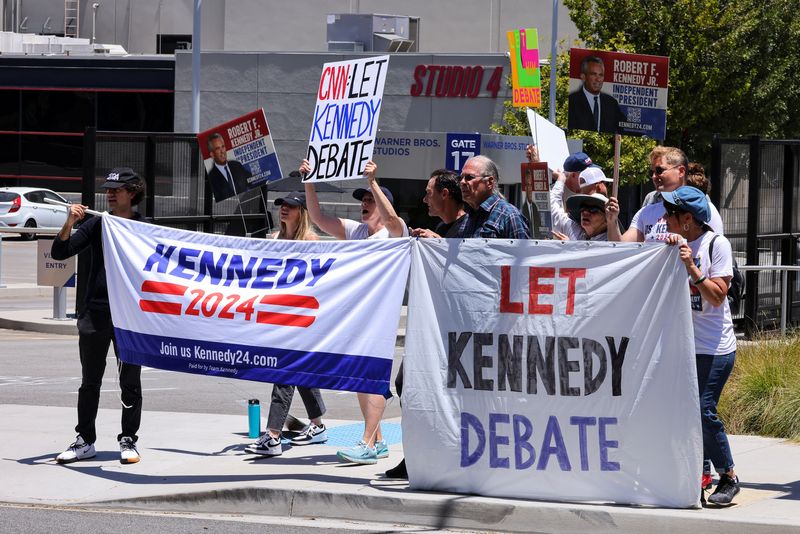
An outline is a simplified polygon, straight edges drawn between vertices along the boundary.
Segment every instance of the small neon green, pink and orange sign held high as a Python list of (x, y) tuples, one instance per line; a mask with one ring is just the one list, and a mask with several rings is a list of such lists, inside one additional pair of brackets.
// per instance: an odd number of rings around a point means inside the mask
[(525, 28), (507, 32), (511, 59), (512, 104), (538, 108), (542, 105), (542, 79), (539, 70), (539, 32)]

